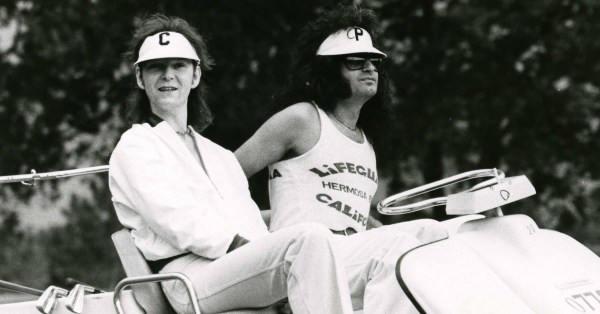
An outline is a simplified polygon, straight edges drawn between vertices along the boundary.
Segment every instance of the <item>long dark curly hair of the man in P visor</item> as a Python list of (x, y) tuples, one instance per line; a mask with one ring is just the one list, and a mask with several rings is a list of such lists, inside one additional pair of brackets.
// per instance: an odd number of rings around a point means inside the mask
[[(333, 110), (337, 101), (351, 96), (351, 88), (342, 77), (340, 56), (317, 56), (321, 43), (331, 34), (351, 26), (365, 29), (374, 42), (380, 34), (379, 20), (375, 13), (357, 5), (338, 4), (322, 12), (317, 19), (308, 23), (298, 37), (293, 55), (291, 75), (284, 89), (274, 97), (280, 108), (298, 102), (315, 101), (327, 111)], [(358, 126), (369, 140), (377, 146), (384, 145), (383, 127), (391, 115), (391, 96), (385, 69), (380, 69), (377, 94), (362, 107)]]

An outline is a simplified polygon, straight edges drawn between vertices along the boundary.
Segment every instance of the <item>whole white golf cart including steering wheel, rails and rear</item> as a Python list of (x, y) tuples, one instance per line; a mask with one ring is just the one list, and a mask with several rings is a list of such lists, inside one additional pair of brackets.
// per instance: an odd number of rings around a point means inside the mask
[[(106, 170), (97, 168), (94, 172)], [(0, 183), (7, 179), (35, 183), (77, 174), (0, 177), (5, 180)], [(486, 176), (494, 179), (467, 192), (396, 206), (432, 189)], [(597, 255), (564, 234), (539, 229), (525, 215), (502, 216), (500, 206), (533, 194), (535, 189), (524, 176), (504, 178), (503, 173), (492, 169), (440, 180), (379, 203), (379, 211), (386, 215), (438, 205), (446, 205), (448, 214), (458, 215), (442, 222), (449, 233), (447, 239), (414, 248), (398, 261), (399, 286), (421, 313), (600, 313)], [(0, 313), (149, 313), (140, 306), (133, 290), (125, 288), (166, 279), (187, 280), (181, 274), (130, 276), (114, 292), (100, 293), (91, 293), (93, 289), (83, 285), (70, 291), (48, 287), (42, 293), (0, 281), (0, 289), (33, 295), (31, 301), (0, 304)], [(193, 289), (189, 293), (195, 295)]]

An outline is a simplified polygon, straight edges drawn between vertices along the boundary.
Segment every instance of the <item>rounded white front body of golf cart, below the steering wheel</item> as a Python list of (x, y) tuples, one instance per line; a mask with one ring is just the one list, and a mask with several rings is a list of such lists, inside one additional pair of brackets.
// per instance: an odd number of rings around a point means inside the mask
[(424, 313), (600, 313), (600, 260), (524, 215), (462, 224), (398, 263)]

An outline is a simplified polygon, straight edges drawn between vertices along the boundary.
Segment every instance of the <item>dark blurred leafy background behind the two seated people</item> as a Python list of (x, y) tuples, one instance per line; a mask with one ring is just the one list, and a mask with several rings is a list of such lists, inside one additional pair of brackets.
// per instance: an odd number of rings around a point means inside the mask
[[(206, 36), (217, 66), (203, 74), (216, 115), (205, 135), (235, 150), (271, 112), (300, 27), (334, 3), (0, 0), (0, 175), (108, 162), (134, 87), (122, 53), (134, 18), (155, 12)], [(600, 2), (358, 3), (383, 22), (394, 91), (378, 197), (473, 169), (525, 174), (537, 195), (505, 213), (600, 253)], [(250, 180), (262, 208), (266, 177)], [(4, 184), (0, 198), (0, 279), (112, 289), (123, 277), (106, 175)], [(441, 209), (379, 218), (419, 217), (449, 218)]]

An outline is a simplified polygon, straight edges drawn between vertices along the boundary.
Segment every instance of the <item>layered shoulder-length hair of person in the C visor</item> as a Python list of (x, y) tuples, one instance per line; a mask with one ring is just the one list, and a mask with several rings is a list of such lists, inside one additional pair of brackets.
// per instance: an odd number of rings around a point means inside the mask
[[(214, 61), (208, 54), (206, 43), (198, 31), (188, 22), (179, 17), (169, 17), (162, 14), (154, 14), (149, 17), (136, 19), (138, 24), (133, 38), (129, 42), (129, 49), (125, 53), (125, 57), (130, 64), (133, 64), (140, 51), (140, 47), (148, 36), (156, 33), (171, 31), (177, 32), (185, 36), (192, 47), (196, 50), (200, 58), (200, 69), (207, 71), (212, 68)], [(140, 63), (140, 69), (143, 68), (144, 62)], [(194, 67), (196, 64), (194, 65)], [(188, 96), (188, 121), (187, 124), (194, 127), (198, 132), (206, 129), (213, 120), (212, 112), (206, 101), (207, 87), (200, 80), (198, 87), (190, 91)], [(141, 90), (135, 85), (131, 92), (127, 103), (127, 119), (130, 123), (143, 123), (148, 121), (152, 115), (150, 108), (150, 100), (144, 90)]]

